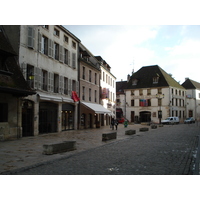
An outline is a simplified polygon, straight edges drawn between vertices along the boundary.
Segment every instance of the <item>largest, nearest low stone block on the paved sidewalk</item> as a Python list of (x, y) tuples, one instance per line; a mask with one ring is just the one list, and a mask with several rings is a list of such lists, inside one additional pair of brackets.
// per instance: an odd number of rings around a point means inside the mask
[(52, 155), (73, 150), (76, 150), (76, 141), (63, 141), (60, 143), (43, 145), (43, 154), (45, 155)]

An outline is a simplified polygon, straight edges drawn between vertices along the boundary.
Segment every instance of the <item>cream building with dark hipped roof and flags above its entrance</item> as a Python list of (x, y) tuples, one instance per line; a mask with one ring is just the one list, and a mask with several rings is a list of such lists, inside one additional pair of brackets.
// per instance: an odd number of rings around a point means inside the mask
[(124, 93), (118, 93), (118, 110), (121, 108), (130, 122), (160, 123), (170, 116), (179, 117), (180, 122), (185, 119), (185, 88), (158, 65), (142, 67), (121, 89)]

